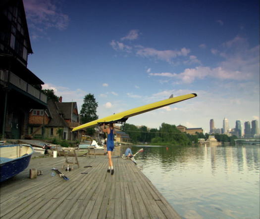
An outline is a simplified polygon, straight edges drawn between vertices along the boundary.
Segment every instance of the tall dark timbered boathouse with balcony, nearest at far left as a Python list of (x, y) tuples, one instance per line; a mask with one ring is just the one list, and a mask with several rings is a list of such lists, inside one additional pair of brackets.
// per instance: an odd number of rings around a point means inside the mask
[(0, 135), (23, 138), (30, 109), (47, 109), (44, 82), (27, 68), (32, 47), (22, 0), (0, 1)]

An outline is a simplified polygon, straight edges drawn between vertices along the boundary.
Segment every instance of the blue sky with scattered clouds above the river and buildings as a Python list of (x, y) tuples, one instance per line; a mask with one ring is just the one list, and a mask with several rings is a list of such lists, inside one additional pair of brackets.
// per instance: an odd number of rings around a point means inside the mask
[(174, 96), (196, 98), (129, 118), (222, 128), (260, 117), (258, 0), (24, 0), (28, 68), (63, 102), (93, 93), (100, 118)]

